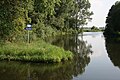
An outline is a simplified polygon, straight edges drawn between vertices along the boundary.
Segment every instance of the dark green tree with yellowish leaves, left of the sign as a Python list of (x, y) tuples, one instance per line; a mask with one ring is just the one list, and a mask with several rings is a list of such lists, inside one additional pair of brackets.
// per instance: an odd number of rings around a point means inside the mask
[(1, 0), (0, 37), (11, 41), (24, 32), (26, 24), (31, 22), (28, 13), (32, 10), (32, 0)]

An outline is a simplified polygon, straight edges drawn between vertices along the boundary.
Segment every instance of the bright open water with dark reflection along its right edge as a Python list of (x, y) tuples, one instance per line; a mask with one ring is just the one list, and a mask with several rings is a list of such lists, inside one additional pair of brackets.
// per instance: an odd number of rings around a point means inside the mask
[(73, 80), (120, 80), (120, 42), (106, 40), (101, 32), (83, 35), (83, 40), (91, 44), (93, 54), (84, 74)]

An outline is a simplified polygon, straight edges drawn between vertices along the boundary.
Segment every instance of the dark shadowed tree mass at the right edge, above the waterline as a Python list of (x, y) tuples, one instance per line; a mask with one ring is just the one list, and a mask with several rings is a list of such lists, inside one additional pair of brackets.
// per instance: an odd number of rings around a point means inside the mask
[(106, 19), (105, 35), (119, 35), (120, 32), (120, 1), (117, 1), (109, 10)]

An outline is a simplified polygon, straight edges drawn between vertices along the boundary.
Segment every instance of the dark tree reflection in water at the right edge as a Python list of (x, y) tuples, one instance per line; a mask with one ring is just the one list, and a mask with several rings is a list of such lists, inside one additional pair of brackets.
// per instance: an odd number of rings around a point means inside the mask
[(120, 68), (120, 38), (106, 38), (106, 49), (111, 62)]

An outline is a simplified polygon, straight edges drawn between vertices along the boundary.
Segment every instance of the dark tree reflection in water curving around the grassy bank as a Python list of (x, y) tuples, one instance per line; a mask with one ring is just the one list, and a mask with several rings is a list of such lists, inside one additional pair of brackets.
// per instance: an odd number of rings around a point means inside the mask
[(0, 80), (71, 80), (82, 74), (90, 62), (90, 47), (78, 36), (49, 40), (52, 44), (74, 52), (74, 60), (56, 64), (0, 62)]

